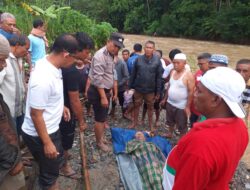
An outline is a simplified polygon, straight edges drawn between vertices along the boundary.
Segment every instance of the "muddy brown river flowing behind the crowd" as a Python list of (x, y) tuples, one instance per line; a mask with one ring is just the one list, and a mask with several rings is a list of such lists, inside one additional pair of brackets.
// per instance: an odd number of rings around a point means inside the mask
[(133, 51), (133, 45), (135, 43), (141, 43), (143, 45), (147, 40), (154, 41), (156, 49), (161, 49), (163, 51), (163, 57), (166, 58), (168, 58), (168, 53), (171, 49), (178, 48), (187, 55), (188, 64), (192, 68), (192, 71), (198, 68), (196, 65), (197, 55), (204, 52), (227, 55), (229, 58), (229, 66), (232, 68), (235, 68), (235, 64), (238, 60), (242, 58), (250, 59), (250, 46), (143, 35), (124, 34), (124, 37), (125, 48), (131, 52)]

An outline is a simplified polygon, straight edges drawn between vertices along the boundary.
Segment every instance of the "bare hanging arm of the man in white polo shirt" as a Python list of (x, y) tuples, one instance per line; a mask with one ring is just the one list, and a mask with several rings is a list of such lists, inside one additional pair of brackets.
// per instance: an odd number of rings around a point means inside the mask
[(57, 152), (56, 147), (47, 132), (45, 121), (43, 119), (43, 112), (44, 110), (31, 108), (30, 115), (32, 121), (34, 122), (38, 136), (44, 145), (44, 153), (46, 157), (54, 159), (59, 153)]

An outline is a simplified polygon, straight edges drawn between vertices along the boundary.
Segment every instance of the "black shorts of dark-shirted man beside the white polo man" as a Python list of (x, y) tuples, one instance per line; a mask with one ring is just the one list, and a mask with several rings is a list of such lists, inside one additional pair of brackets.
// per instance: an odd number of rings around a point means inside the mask
[[(72, 113), (71, 116), (73, 116)], [(71, 118), (69, 121), (64, 121), (64, 119), (62, 118), (59, 124), (59, 129), (62, 136), (63, 150), (69, 150), (72, 148), (75, 136), (75, 128), (76, 128), (76, 122), (74, 117)]]

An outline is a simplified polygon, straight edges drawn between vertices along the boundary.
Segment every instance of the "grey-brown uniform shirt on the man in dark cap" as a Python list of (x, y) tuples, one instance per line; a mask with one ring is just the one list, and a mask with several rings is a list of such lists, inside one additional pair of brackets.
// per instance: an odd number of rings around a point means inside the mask
[(98, 50), (89, 72), (91, 84), (98, 88), (111, 89), (114, 84), (114, 58), (106, 46)]

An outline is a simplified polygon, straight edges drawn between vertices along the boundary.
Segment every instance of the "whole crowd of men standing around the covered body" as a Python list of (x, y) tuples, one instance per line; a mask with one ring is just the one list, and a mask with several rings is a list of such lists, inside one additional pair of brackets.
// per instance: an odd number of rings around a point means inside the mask
[(228, 189), (248, 145), (250, 60), (239, 60), (235, 71), (226, 55), (204, 52), (193, 74), (180, 49), (166, 59), (148, 40), (135, 43), (130, 53), (116, 32), (93, 56), (92, 50), (94, 42), (84, 32), (62, 34), (49, 49), (43, 20), (34, 20), (25, 36), (12, 14), (1, 14), (0, 190), (25, 186), (21, 144), (39, 165), (40, 189), (59, 189), (59, 174), (77, 178), (69, 150), (76, 126), (88, 127), (84, 109), (90, 115), (93, 108), (97, 147), (110, 151), (107, 118), (118, 104), (131, 121), (128, 128), (144, 124), (147, 113), (152, 133), (163, 127), (159, 117), (165, 109), (164, 136), (176, 133), (180, 139), (165, 163), (164, 189)]

